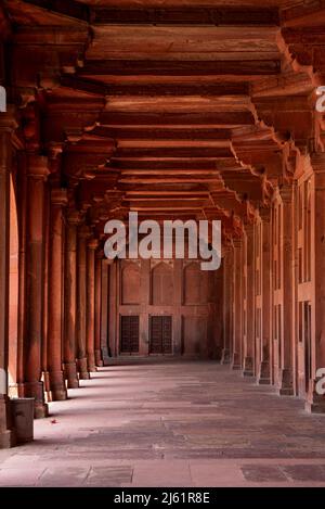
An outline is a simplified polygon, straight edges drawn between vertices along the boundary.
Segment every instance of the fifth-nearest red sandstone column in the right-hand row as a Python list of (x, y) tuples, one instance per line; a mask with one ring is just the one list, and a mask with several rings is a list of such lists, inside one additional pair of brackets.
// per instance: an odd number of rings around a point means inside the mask
[(234, 326), (233, 326), (233, 369), (242, 369), (243, 339), (243, 239), (234, 240)]

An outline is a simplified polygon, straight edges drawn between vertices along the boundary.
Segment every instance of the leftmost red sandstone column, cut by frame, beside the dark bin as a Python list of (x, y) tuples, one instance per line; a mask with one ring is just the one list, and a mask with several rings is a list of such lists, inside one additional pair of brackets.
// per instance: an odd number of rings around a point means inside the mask
[(14, 434), (10, 431), (9, 423), (8, 316), (11, 133), (15, 127), (14, 118), (10, 114), (0, 115), (0, 448), (14, 445)]

